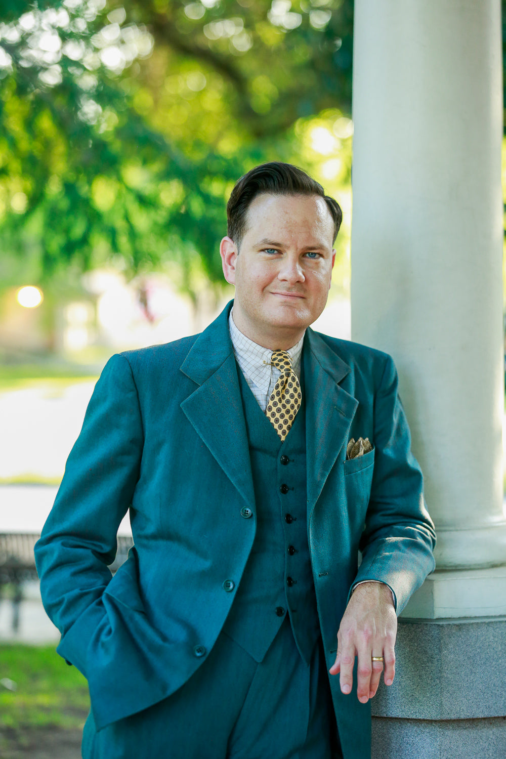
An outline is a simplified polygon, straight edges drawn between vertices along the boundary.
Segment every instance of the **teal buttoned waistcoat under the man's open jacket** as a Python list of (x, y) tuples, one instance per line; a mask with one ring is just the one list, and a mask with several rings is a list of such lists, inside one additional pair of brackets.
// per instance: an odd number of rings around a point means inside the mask
[(319, 619), (307, 540), (304, 402), (281, 442), (239, 367), (237, 374), (255, 488), (256, 534), (223, 629), (259, 662), (288, 613), (297, 648), (309, 663)]

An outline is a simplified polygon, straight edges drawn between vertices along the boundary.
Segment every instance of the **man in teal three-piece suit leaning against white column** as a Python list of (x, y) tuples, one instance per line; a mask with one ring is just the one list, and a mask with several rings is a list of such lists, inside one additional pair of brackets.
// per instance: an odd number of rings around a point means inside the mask
[(300, 169), (254, 168), (220, 247), (233, 304), (97, 383), (36, 546), (85, 759), (370, 756), (434, 531), (391, 358), (309, 329), (340, 223)]

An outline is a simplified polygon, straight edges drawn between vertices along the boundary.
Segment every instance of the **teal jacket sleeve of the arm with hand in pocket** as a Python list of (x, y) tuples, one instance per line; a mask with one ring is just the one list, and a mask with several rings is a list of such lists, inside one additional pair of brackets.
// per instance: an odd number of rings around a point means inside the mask
[(61, 653), (86, 676), (86, 649), (105, 616), (108, 564), (134, 493), (143, 425), (130, 364), (113, 356), (100, 376), (35, 547), (42, 602)]

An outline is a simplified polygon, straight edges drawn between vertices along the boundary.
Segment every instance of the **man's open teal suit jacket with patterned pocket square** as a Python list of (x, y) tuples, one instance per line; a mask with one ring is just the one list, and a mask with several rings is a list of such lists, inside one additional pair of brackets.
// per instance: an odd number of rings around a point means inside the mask
[[(234, 600), (223, 582), (237, 587), (253, 546), (229, 310), (200, 335), (108, 361), (36, 545), (58, 653), (88, 679), (97, 729), (195, 672)], [(308, 329), (303, 360), (307, 531), (330, 666), (353, 584), (385, 582), (399, 613), (434, 567), (435, 536), (391, 358)], [(360, 436), (374, 448), (346, 461)], [(135, 547), (112, 577), (128, 509)], [(368, 757), (369, 706), (338, 678), (332, 695), (344, 757)]]

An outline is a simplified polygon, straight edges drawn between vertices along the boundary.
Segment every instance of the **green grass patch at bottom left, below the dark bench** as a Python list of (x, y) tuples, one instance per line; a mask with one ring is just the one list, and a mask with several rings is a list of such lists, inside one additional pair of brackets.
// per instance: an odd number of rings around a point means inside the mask
[(54, 647), (0, 644), (0, 732), (82, 728), (89, 707), (86, 680)]

